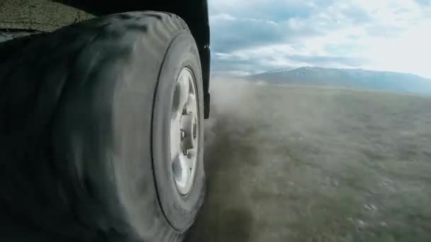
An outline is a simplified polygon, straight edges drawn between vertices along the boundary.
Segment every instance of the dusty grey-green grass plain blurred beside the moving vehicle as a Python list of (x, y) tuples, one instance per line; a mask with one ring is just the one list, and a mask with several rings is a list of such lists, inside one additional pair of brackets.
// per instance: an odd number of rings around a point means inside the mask
[(431, 98), (212, 85), (187, 241), (431, 241)]

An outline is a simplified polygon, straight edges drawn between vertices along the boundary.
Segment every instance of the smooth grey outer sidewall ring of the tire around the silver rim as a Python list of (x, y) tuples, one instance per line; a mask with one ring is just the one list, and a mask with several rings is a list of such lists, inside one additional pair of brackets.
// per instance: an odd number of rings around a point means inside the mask
[[(198, 122), (198, 156), (194, 184), (187, 195), (181, 195), (172, 173), (170, 155), (171, 110), (174, 88), (181, 69), (189, 67), (196, 81)], [(193, 224), (203, 202), (203, 84), (201, 63), (194, 38), (189, 31), (177, 35), (164, 57), (159, 74), (152, 119), (152, 162), (159, 202), (174, 229), (184, 232)]]

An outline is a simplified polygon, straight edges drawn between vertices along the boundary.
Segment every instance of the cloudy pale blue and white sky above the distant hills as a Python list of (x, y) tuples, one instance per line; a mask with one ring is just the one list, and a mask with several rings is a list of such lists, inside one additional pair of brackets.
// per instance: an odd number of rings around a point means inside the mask
[(214, 74), (361, 68), (431, 78), (431, 0), (208, 0)]

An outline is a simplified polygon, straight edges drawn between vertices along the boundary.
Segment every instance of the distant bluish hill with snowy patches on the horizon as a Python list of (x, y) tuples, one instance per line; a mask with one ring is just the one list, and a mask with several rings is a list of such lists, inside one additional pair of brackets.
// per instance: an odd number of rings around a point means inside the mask
[(431, 94), (431, 79), (413, 74), (363, 69), (300, 67), (248, 76), (250, 81), (310, 86), (342, 86), (379, 91)]

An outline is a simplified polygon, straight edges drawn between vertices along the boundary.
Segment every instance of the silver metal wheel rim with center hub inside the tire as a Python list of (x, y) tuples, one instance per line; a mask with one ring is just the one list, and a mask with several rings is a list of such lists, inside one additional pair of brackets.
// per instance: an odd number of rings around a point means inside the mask
[(172, 174), (181, 195), (194, 183), (198, 154), (198, 105), (191, 70), (184, 67), (177, 79), (170, 130)]

